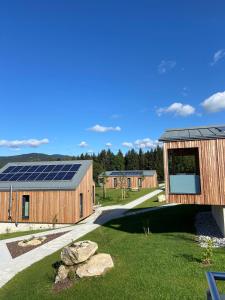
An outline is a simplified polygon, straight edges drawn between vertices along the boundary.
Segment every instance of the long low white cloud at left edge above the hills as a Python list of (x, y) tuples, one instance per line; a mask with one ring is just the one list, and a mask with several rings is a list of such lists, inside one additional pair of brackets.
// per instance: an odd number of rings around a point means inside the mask
[(39, 147), (41, 145), (48, 144), (49, 140), (47, 138), (44, 138), (42, 140), (37, 139), (28, 139), (28, 140), (0, 140), (0, 147), (6, 147), (6, 148), (14, 148), (19, 149), (21, 147)]

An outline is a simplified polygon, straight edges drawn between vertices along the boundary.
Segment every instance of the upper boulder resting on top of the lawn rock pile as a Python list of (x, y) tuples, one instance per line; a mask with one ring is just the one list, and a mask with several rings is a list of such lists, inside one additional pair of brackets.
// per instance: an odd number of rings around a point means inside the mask
[(61, 260), (67, 266), (79, 264), (88, 260), (98, 249), (98, 245), (92, 241), (80, 241), (65, 247), (61, 252)]

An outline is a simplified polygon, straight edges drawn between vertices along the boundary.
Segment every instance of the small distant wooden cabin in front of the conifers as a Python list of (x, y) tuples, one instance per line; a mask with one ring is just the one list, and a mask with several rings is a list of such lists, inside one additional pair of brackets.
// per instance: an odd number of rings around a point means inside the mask
[(155, 170), (135, 171), (106, 171), (99, 175), (99, 179), (106, 177), (106, 188), (154, 188), (158, 186), (157, 173)]

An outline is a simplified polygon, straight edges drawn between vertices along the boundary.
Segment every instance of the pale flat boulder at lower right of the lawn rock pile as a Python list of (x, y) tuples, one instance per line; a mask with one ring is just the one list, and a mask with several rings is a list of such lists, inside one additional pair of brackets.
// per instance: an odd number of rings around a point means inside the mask
[(86, 263), (79, 265), (76, 273), (80, 278), (100, 276), (113, 267), (111, 255), (99, 253), (92, 256)]

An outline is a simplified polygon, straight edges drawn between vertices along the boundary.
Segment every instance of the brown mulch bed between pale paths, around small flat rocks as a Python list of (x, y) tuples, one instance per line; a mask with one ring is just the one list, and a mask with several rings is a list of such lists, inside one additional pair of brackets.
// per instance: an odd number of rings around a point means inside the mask
[[(59, 233), (53, 233), (53, 234), (48, 234), (48, 235), (43, 235), (43, 236), (46, 236), (46, 240), (44, 240), (40, 245), (36, 245), (36, 246), (27, 246), (27, 247), (20, 247), (18, 246), (18, 243), (20, 241), (23, 241), (23, 240), (18, 240), (16, 242), (11, 242), (11, 243), (6, 243), (6, 246), (12, 256), (12, 258), (16, 258), (24, 253), (27, 253), (35, 248), (38, 248), (60, 236), (62, 236), (63, 234), (67, 233), (69, 231), (65, 231), (65, 232), (59, 232)], [(35, 235), (34, 235), (35, 236)]]

